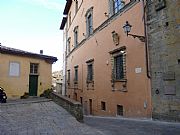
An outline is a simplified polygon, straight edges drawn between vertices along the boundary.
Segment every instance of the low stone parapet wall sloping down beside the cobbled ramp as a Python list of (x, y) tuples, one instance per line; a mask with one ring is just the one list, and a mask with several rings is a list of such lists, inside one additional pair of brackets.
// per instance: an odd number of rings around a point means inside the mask
[(71, 115), (73, 115), (78, 121), (83, 122), (83, 110), (81, 103), (69, 99), (57, 93), (50, 93), (50, 98), (66, 109)]

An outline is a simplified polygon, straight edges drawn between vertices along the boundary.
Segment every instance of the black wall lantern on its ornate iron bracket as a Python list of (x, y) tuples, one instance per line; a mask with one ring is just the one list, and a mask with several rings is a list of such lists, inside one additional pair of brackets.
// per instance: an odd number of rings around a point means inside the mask
[(125, 25), (123, 26), (124, 32), (127, 34), (127, 36), (132, 36), (133, 38), (138, 38), (141, 42), (145, 42), (145, 36), (139, 36), (135, 34), (129, 34), (131, 31), (132, 25), (129, 24), (128, 21), (126, 21)]

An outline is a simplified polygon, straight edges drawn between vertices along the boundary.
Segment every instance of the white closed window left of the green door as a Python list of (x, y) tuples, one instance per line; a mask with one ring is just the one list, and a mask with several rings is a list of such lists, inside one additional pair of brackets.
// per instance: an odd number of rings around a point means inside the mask
[(20, 75), (20, 64), (18, 62), (9, 63), (9, 76), (18, 77)]

